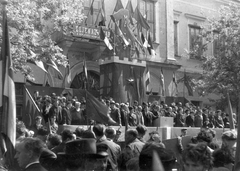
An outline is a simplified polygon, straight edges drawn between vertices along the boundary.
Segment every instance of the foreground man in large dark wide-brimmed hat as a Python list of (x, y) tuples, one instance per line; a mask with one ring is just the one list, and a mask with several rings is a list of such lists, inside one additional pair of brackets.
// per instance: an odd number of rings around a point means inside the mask
[(101, 170), (107, 168), (107, 147), (96, 146), (93, 138), (82, 138), (66, 143), (65, 151), (58, 153), (58, 161), (61, 161), (67, 171)]

